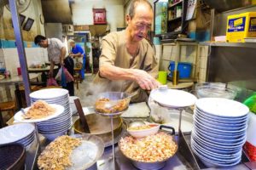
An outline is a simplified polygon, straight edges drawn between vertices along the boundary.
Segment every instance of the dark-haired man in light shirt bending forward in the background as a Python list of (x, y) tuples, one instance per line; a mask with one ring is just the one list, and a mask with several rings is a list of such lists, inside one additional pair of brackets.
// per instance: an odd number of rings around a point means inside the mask
[[(49, 77), (55, 77), (54, 66), (58, 65), (65, 66), (67, 71), (73, 76), (73, 59), (67, 56), (67, 50), (63, 42), (58, 38), (46, 38), (44, 36), (38, 35), (34, 38), (35, 44), (41, 48), (47, 48), (50, 68)], [(74, 95), (73, 82), (67, 82), (66, 88), (70, 96)]]

